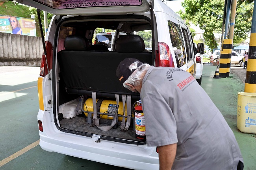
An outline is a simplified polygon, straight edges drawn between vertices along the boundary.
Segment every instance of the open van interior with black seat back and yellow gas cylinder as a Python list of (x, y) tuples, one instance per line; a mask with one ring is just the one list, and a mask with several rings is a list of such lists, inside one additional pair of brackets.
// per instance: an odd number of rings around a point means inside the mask
[[(55, 113), (57, 128), (63, 132), (89, 137), (99, 135), (101, 139), (110, 141), (145, 144), (145, 140), (135, 137), (134, 112), (130, 118), (124, 116), (122, 104), (117, 106), (116, 101), (116, 94), (119, 95), (120, 102), (123, 100), (122, 95), (131, 96), (131, 104), (126, 107), (131, 107), (133, 111), (140, 95), (125, 89), (117, 79), (115, 71), (125, 58), (137, 58), (141, 62), (154, 65), (152, 51), (145, 50), (145, 42), (152, 47), (152, 38), (148, 40), (148, 35), (136, 35), (139, 31), (151, 31), (149, 18), (136, 15), (119, 18), (80, 16), (63, 19), (58, 27), (59, 35), (55, 37), (58, 49), (54, 49), (57, 54), (53, 55), (58, 63), (56, 68), (53, 67), (58, 70), (54, 75), (58, 79), (54, 85), (58, 94), (54, 97), (58, 103), (58, 108), (54, 109), (58, 112)], [(93, 44), (96, 28), (115, 30), (113, 51), (109, 51), (104, 44)], [(149, 35), (152, 36), (151, 32)], [(118, 123), (108, 131), (92, 126), (93, 93), (96, 94), (96, 117), (100, 126), (110, 126), (118, 107)], [(130, 127), (126, 131), (120, 128), (122, 117), (126, 121), (130, 119)]]

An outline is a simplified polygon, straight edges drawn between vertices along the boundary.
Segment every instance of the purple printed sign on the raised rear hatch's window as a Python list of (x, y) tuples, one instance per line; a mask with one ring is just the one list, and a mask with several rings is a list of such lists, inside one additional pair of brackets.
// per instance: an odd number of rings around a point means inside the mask
[(142, 5), (142, 0), (35, 0), (35, 1), (55, 9)]

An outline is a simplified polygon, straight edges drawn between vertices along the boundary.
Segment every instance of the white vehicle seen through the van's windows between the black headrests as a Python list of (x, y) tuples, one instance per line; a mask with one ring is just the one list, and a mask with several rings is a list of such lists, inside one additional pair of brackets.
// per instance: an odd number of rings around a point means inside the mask
[[(119, 35), (126, 35), (126, 33), (119, 33)], [(94, 44), (104, 44), (112, 51), (112, 42), (114, 42), (115, 32), (110, 33), (97, 33), (95, 36)]]

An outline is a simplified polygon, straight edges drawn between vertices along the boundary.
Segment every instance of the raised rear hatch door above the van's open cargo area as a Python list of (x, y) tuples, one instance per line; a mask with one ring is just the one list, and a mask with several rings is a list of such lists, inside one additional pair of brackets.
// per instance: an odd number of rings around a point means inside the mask
[(122, 14), (150, 10), (148, 5), (150, 0), (16, 0), (16, 2), (55, 15), (102, 15), (113, 12)]

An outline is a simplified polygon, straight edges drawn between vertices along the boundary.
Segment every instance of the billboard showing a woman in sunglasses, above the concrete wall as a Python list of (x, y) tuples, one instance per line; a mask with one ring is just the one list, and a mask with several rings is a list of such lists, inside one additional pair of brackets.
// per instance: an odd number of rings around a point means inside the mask
[(0, 32), (36, 36), (35, 20), (0, 15)]

